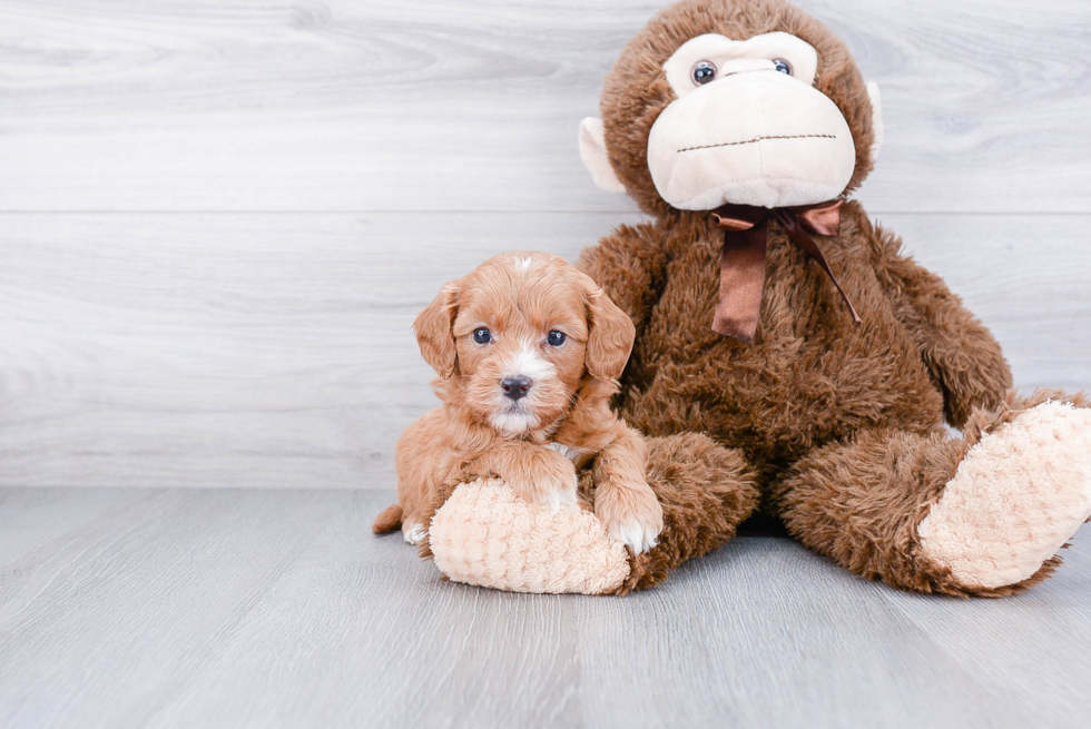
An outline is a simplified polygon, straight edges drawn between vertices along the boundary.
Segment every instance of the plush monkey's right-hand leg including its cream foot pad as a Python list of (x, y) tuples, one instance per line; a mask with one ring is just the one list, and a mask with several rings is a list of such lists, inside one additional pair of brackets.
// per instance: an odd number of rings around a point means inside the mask
[(1091, 515), (1091, 410), (1009, 396), (962, 440), (865, 432), (793, 469), (774, 506), (806, 546), (904, 590), (1001, 597), (1041, 582)]

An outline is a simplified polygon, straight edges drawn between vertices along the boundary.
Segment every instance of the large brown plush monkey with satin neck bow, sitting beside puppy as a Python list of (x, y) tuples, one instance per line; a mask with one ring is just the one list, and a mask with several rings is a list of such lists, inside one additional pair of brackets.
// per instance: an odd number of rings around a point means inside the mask
[(513, 589), (533, 552), (551, 575), (514, 589), (625, 592), (761, 509), (901, 589), (1005, 595), (1053, 571), (1091, 516), (1091, 410), (1012, 393), (987, 329), (846, 200), (875, 161), (878, 107), (844, 43), (783, 0), (684, 0), (629, 42), (580, 151), (655, 220), (579, 265), (637, 328), (616, 404), (650, 436), (664, 531), (622, 578), (553, 546), (564, 514), (494, 549), (511, 514), (468, 491), (436, 514), (441, 569)]

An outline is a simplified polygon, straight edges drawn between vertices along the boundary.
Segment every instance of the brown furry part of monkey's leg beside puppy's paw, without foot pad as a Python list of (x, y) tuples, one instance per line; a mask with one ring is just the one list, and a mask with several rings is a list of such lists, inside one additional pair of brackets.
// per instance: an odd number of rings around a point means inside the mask
[(664, 530), (650, 552), (630, 560), (620, 594), (658, 584), (686, 560), (719, 548), (758, 505), (741, 453), (697, 433), (648, 439), (648, 483), (662, 505)]

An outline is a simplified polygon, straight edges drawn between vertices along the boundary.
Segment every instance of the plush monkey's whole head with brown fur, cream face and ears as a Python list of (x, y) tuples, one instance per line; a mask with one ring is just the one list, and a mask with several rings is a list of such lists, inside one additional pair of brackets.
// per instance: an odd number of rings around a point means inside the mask
[(626, 47), (580, 155), (651, 214), (790, 207), (851, 191), (882, 141), (878, 89), (783, 0), (684, 0)]

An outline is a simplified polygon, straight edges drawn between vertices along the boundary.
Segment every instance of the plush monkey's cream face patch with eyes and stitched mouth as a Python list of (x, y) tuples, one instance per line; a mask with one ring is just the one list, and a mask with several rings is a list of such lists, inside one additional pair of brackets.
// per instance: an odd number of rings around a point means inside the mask
[(711, 210), (841, 195), (856, 148), (841, 109), (814, 88), (817, 69), (815, 49), (784, 32), (684, 43), (664, 63), (677, 98), (648, 136), (659, 196), (682, 210)]

